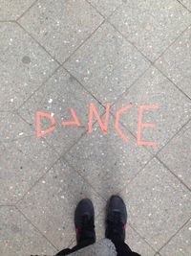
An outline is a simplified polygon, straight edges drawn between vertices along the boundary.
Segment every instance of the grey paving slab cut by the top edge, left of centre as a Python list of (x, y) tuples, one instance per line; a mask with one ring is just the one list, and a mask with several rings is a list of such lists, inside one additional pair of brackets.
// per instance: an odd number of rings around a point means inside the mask
[(60, 62), (64, 62), (103, 21), (85, 0), (40, 0), (20, 24)]

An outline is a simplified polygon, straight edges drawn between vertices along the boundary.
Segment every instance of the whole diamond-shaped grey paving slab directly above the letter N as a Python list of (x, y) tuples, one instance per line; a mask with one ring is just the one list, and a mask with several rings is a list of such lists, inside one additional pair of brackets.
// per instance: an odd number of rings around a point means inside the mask
[(108, 23), (64, 66), (102, 103), (117, 100), (149, 62)]

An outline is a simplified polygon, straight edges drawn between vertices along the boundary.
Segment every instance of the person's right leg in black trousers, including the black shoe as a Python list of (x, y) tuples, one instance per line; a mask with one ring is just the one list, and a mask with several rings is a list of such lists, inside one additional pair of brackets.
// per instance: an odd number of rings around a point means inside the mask
[(107, 205), (105, 237), (116, 246), (117, 256), (138, 255), (124, 243), (127, 210), (122, 198), (112, 196)]

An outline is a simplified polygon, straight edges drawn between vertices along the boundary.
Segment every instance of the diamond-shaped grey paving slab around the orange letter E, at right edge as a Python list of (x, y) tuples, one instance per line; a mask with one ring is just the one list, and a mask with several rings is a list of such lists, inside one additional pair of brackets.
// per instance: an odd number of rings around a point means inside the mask
[(189, 120), (191, 101), (176, 86), (162, 76), (155, 68), (150, 68), (117, 102), (114, 108), (125, 105), (133, 107), (124, 112), (120, 120), (138, 137), (139, 105), (158, 105), (158, 109), (144, 109), (142, 123), (153, 123), (155, 128), (141, 128), (141, 140), (157, 142), (157, 146), (145, 146), (156, 153), (168, 143), (173, 135)]

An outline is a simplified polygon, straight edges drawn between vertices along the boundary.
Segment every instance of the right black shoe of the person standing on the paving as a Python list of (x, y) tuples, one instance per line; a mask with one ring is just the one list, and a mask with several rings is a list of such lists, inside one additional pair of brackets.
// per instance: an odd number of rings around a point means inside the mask
[(105, 237), (124, 242), (126, 222), (127, 210), (123, 199), (112, 196), (107, 205)]

